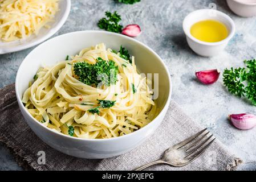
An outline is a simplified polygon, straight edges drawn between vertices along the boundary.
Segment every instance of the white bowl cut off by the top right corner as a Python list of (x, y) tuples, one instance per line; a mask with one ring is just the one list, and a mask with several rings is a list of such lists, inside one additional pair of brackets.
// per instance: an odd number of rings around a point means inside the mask
[(256, 15), (255, 0), (227, 0), (229, 8), (237, 15), (242, 17), (250, 17)]

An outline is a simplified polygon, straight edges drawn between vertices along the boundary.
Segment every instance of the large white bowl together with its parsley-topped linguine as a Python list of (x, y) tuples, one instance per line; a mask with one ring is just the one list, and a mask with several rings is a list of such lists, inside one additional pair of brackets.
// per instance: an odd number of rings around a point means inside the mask
[(105, 31), (71, 32), (40, 44), (20, 65), (15, 87), (36, 135), (90, 159), (143, 142), (160, 125), (172, 92), (168, 69), (152, 49)]

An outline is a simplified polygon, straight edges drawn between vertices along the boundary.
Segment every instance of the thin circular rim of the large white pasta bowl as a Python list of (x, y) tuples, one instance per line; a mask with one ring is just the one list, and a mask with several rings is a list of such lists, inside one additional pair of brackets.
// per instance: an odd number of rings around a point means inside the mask
[[(131, 135), (135, 135), (137, 132), (143, 132), (147, 127), (151, 126), (153, 122), (156, 122), (157, 118), (160, 117), (160, 115), (162, 114), (162, 111), (165, 110), (165, 109), (168, 109), (166, 107), (169, 106), (170, 104), (170, 98), (172, 96), (172, 80), (170, 78), (170, 73), (168, 71), (168, 68), (166, 67), (164, 61), (161, 59), (161, 57), (155, 52), (153, 51), (153, 49), (151, 49), (150, 47), (148, 47), (147, 45), (145, 45), (144, 43), (141, 43), (139, 42), (139, 40), (136, 40), (136, 39), (133, 39), (133, 38), (129, 38), (128, 36), (125, 36), (125, 35), (121, 35), (121, 34), (116, 34), (116, 33), (113, 33), (113, 32), (107, 32), (107, 31), (97, 31), (97, 30), (85, 30), (85, 31), (75, 31), (75, 32), (70, 32), (70, 33), (67, 33), (67, 34), (62, 34), (62, 35), (59, 35), (59, 36), (56, 36), (54, 38), (51, 38), (51, 39), (48, 39), (46, 42), (40, 44), (39, 46), (43, 45), (43, 44), (46, 44), (47, 42), (49, 41), (52, 41), (54, 39), (57, 39), (59, 38), (60, 36), (67, 36), (67, 35), (70, 35), (70, 34), (79, 34), (79, 33), (84, 33), (84, 32), (88, 32), (88, 33), (97, 33), (97, 34), (109, 34), (109, 35), (116, 35), (116, 36), (121, 36), (125, 39), (128, 39), (128, 40), (132, 40), (134, 42), (136, 42), (137, 44), (140, 44), (141, 46), (147, 48), (150, 52), (152, 52), (156, 57), (157, 59), (160, 60), (160, 63), (162, 64), (162, 66), (164, 67), (166, 73), (168, 74), (168, 81), (169, 81), (169, 95), (168, 95), (168, 98), (166, 100), (166, 103), (164, 105), (164, 107), (162, 108), (162, 110), (160, 111), (160, 113), (157, 115), (157, 117), (155, 119), (153, 119), (150, 123), (148, 123), (148, 125), (142, 127), (141, 129), (139, 130), (136, 130), (130, 134), (127, 134), (127, 135), (123, 135), (121, 137), (115, 137), (115, 138), (106, 138), (106, 139), (85, 139), (85, 138), (78, 138), (78, 137), (71, 137), (69, 135), (65, 135), (63, 133), (58, 133), (50, 128), (48, 128), (47, 126), (44, 126), (42, 123), (38, 122), (34, 117), (32, 117), (32, 115), (29, 113), (29, 111), (27, 111), (27, 109), (25, 108), (25, 106), (23, 105), (22, 103), (22, 100), (21, 100), (21, 97), (19, 97), (19, 92), (18, 92), (18, 84), (17, 84), (17, 79), (19, 77), (19, 74), (21, 73), (21, 66), (23, 64), (25, 64), (25, 61), (27, 56), (30, 55), (30, 53), (25, 57), (25, 59), (22, 61), (21, 65), (19, 65), (19, 69), (18, 69), (18, 72), (17, 72), (17, 75), (16, 75), (16, 79), (15, 79), (15, 92), (16, 92), (16, 97), (17, 97), (17, 100), (19, 102), (19, 104), (22, 106), (22, 109), (25, 110), (26, 114), (38, 125), (38, 127), (44, 127), (46, 130), (52, 132), (52, 133), (55, 133), (57, 135), (61, 135), (63, 137), (66, 137), (66, 138), (71, 138), (71, 139), (75, 139), (75, 140), (84, 140), (84, 141), (95, 141), (95, 142), (102, 142), (102, 141), (106, 141), (106, 140), (118, 140), (120, 138), (125, 138), (125, 137), (129, 137)], [(32, 51), (35, 51), (35, 49), (37, 49), (39, 46), (37, 46), (36, 48), (34, 48)], [(32, 52), (31, 51), (31, 52)]]

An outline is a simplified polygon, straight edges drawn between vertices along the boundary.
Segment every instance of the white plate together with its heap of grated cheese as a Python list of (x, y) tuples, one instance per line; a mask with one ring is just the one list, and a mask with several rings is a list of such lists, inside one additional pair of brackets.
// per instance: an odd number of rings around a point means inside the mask
[(0, 55), (36, 46), (66, 22), (70, 0), (0, 2)]

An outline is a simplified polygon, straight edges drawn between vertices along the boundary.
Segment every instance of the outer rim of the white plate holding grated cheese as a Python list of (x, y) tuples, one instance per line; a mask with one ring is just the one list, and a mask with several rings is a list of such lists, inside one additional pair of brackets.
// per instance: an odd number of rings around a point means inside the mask
[(71, 9), (71, 0), (64, 0), (64, 1), (67, 2), (67, 6), (66, 6), (66, 9), (64, 11), (62, 18), (60, 18), (60, 20), (58, 21), (58, 24), (56, 24), (56, 26), (54, 28), (51, 28), (47, 34), (43, 35), (41, 38), (39, 38), (36, 41), (31, 41), (31, 43), (28, 43), (28, 44), (24, 44), (24, 45), (21, 44), (17, 47), (3, 48), (2, 52), (0, 51), (0, 55), (5, 54), (5, 53), (22, 51), (22, 50), (28, 49), (30, 47), (36, 46), (36, 45), (44, 42), (44, 40), (49, 39), (52, 35), (54, 35), (57, 31), (59, 31), (60, 28), (63, 26), (63, 24), (66, 22), (68, 15), (70, 14), (70, 9)]

